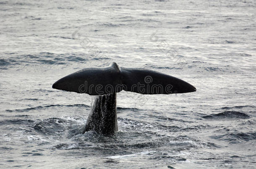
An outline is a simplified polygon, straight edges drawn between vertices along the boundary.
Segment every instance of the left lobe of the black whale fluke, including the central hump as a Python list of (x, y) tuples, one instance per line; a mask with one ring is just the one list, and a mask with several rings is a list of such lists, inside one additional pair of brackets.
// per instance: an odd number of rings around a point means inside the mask
[(86, 68), (56, 81), (52, 88), (103, 95), (123, 90), (121, 73), (116, 63), (107, 68)]

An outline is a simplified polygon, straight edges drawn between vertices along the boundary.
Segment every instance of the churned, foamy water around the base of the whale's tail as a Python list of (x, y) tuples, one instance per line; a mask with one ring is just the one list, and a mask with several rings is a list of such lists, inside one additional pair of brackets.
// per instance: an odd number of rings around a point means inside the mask
[[(162, 128), (165, 126), (126, 118), (118, 118), (118, 122), (122, 124), (122, 127), (114, 135), (103, 136), (94, 131), (81, 134), (84, 124), (79, 124), (77, 120), (50, 118), (39, 121), (32, 129), (39, 133), (47, 134), (47, 136), (50, 134), (54, 135), (54, 137), (69, 138), (68, 142), (52, 146), (52, 149), (91, 149), (92, 151), (102, 151), (105, 149), (121, 151), (126, 149), (140, 151), (141, 149), (152, 149), (162, 146), (172, 146), (175, 150), (216, 146), (189, 136), (167, 136), (155, 130), (159, 128), (162, 131)], [(165, 128), (173, 129), (173, 127), (170, 128), (169, 126)], [(179, 127), (175, 127), (175, 129), (178, 130)]]

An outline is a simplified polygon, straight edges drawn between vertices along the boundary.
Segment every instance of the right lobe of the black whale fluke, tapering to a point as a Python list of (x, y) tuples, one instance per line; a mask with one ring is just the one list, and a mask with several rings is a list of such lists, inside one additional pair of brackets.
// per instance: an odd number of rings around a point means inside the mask
[(140, 94), (172, 94), (196, 91), (191, 84), (157, 71), (121, 68), (123, 90)]

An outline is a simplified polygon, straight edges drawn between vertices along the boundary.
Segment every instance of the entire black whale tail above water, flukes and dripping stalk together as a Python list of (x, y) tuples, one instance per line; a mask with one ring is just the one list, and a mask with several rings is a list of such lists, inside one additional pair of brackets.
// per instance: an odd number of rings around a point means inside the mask
[(143, 68), (119, 68), (114, 62), (106, 68), (86, 68), (56, 81), (52, 88), (97, 95), (83, 133), (118, 131), (116, 93), (122, 90), (140, 94), (172, 94), (196, 91), (191, 84), (173, 76)]

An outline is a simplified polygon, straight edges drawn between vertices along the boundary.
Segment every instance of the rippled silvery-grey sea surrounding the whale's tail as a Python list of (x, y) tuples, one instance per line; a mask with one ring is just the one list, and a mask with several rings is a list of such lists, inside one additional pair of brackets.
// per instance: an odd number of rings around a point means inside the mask
[[(255, 168), (255, 0), (1, 0), (0, 168)], [(113, 136), (81, 134), (83, 68), (148, 68), (196, 92), (117, 94)]]

